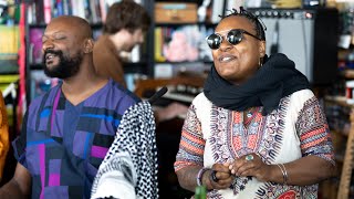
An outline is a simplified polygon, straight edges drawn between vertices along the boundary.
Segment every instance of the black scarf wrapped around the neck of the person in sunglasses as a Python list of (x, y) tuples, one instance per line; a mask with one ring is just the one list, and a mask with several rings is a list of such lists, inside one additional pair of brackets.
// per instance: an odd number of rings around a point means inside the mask
[(287, 55), (278, 53), (266, 56), (264, 64), (241, 85), (222, 78), (212, 65), (204, 93), (217, 106), (238, 112), (263, 106), (262, 114), (267, 115), (278, 108), (282, 97), (304, 88), (310, 88), (306, 76)]

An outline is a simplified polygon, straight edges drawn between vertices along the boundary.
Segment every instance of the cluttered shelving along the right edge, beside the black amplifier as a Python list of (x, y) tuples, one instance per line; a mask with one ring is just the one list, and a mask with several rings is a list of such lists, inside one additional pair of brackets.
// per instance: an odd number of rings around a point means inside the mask
[[(333, 3), (333, 2), (332, 2)], [(324, 107), (332, 132), (332, 140), (337, 165), (337, 176), (322, 186), (324, 199), (354, 198), (354, 104), (348, 96), (346, 83), (354, 80), (353, 4), (333, 3), (340, 11), (339, 71), (340, 75), (324, 97)]]

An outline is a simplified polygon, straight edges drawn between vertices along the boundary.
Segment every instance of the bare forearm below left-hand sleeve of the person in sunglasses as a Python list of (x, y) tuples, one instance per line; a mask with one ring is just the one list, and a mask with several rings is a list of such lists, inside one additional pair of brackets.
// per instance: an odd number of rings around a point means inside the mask
[(194, 192), (196, 187), (198, 186), (197, 175), (201, 167), (198, 167), (198, 166), (189, 166), (178, 170), (176, 174), (177, 174), (180, 187)]

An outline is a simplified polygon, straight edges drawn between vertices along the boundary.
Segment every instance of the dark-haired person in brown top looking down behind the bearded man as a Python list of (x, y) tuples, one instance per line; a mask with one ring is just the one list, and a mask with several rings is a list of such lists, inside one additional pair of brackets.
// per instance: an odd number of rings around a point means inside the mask
[[(144, 42), (150, 25), (150, 17), (144, 7), (133, 0), (113, 3), (103, 28), (103, 34), (95, 42), (93, 60), (100, 76), (111, 77), (126, 87), (121, 52), (132, 52), (133, 48)], [(156, 122), (171, 119), (187, 113), (188, 107), (171, 103), (155, 111)]]

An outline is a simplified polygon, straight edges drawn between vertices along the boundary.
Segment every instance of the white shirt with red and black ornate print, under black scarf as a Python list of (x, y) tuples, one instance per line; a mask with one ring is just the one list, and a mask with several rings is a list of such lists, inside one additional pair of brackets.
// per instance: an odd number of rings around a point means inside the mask
[[(334, 164), (325, 115), (310, 90), (283, 97), (277, 109), (262, 116), (257, 107), (248, 125), (242, 112), (214, 105), (204, 93), (196, 96), (183, 126), (175, 170), (188, 166), (211, 168), (250, 153), (268, 165), (317, 156)], [(317, 198), (317, 185), (288, 186), (237, 177), (230, 188), (208, 191), (210, 199)]]

